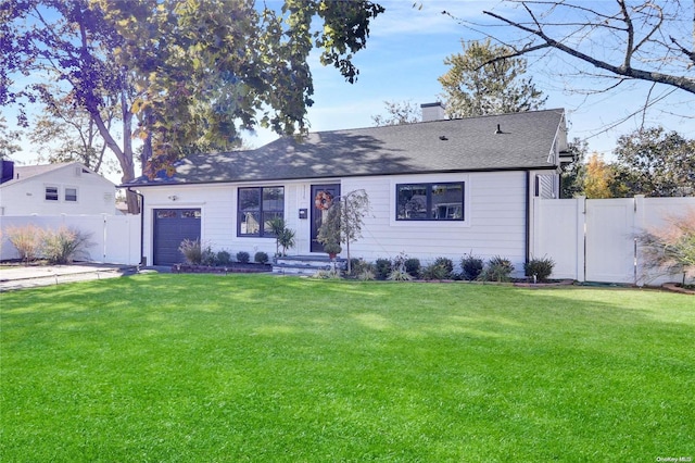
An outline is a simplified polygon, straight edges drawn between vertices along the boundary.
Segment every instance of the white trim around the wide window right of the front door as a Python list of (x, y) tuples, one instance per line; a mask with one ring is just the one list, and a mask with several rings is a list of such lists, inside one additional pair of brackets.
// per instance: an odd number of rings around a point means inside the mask
[[(464, 183), (464, 220), (463, 221), (399, 221), (396, 215), (396, 185), (401, 184), (437, 184)], [(470, 221), (470, 176), (468, 174), (427, 174), (392, 177), (389, 183), (389, 225), (392, 227), (422, 228), (468, 228)]]

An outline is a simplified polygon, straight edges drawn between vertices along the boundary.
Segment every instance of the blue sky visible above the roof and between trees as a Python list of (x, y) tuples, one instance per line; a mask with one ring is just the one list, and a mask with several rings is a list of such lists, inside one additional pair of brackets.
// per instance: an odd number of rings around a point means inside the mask
[[(281, 4), (280, 0), (266, 1), (270, 7), (279, 8)], [(344, 82), (336, 68), (321, 66), (318, 53), (313, 53), (315, 103), (308, 110), (312, 132), (372, 126), (371, 117), (386, 113), (384, 101), (409, 101), (419, 105), (441, 99), (438, 77), (447, 71), (444, 59), (462, 51), (462, 39), (483, 38), (441, 14), (442, 10), (473, 22), (484, 21), (483, 10), (514, 14), (500, 1), (421, 0), (419, 10), (413, 8), (414, 0), (380, 0), (379, 3), (387, 11), (372, 22), (367, 48), (354, 58), (361, 72), (355, 84)], [(605, 0), (592, 3), (607, 4)], [(542, 59), (531, 57), (527, 76), (533, 76), (536, 88), (548, 97), (546, 108), (566, 109), (570, 139), (587, 138), (591, 151), (610, 159), (616, 139), (637, 128), (641, 118), (635, 117), (602, 132), (639, 110), (649, 85), (634, 83), (610, 93), (568, 92), (565, 90), (568, 86), (585, 88), (589, 85), (586, 78), (573, 77), (578, 66), (581, 70), (581, 63), (559, 54)], [(666, 91), (669, 91), (666, 87), (657, 88), (654, 95)], [(647, 125), (661, 124), (669, 130), (695, 138), (695, 118), (680, 117), (682, 114), (695, 114), (695, 99), (678, 90), (654, 107), (645, 122)], [(268, 130), (257, 130), (247, 137), (248, 142), (255, 147), (275, 138), (277, 136)], [(23, 163), (36, 159), (35, 149), (27, 141), (23, 146), (25, 151), (14, 158)]]

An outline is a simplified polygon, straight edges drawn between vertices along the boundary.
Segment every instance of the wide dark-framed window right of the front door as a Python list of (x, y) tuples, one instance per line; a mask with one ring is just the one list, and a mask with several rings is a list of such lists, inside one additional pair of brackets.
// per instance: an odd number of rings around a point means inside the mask
[(464, 183), (396, 185), (397, 221), (463, 221)]

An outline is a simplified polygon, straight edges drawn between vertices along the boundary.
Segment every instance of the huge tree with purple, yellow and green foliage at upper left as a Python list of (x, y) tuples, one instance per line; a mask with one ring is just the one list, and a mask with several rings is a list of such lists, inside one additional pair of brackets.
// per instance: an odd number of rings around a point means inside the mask
[[(52, 96), (36, 80), (15, 87), (16, 76), (53, 77), (93, 118), (124, 183), (135, 178), (134, 137), (150, 175), (170, 173), (180, 157), (233, 148), (257, 126), (306, 133), (309, 52), (320, 49), (321, 64), (354, 83), (352, 59), (381, 12), (368, 0), (285, 0), (280, 11), (252, 0), (5, 2), (0, 104), (17, 103), (28, 125), (27, 102), (50, 104)], [(112, 102), (117, 129), (102, 117)]]

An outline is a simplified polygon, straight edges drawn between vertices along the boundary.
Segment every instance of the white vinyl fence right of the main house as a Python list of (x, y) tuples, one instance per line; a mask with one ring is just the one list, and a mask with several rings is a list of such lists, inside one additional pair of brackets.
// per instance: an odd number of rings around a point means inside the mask
[(647, 268), (636, 237), (695, 210), (695, 198), (534, 200), (531, 255), (555, 261), (553, 277), (660, 285), (682, 275)]

